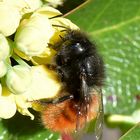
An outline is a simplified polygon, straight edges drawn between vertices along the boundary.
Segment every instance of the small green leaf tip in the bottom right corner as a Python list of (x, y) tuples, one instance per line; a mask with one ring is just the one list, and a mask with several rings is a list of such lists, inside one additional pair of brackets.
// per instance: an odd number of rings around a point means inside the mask
[(139, 140), (140, 139), (140, 123), (130, 129), (119, 140)]

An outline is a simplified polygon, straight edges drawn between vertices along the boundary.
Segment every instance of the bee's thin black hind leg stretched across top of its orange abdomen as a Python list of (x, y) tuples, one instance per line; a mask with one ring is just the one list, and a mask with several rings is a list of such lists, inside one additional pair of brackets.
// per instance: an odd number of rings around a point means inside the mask
[(63, 97), (56, 98), (56, 99), (35, 100), (34, 102), (37, 102), (37, 103), (45, 106), (48, 104), (58, 104), (58, 103), (61, 103), (63, 101), (70, 100), (70, 99), (73, 99), (73, 95), (65, 95)]

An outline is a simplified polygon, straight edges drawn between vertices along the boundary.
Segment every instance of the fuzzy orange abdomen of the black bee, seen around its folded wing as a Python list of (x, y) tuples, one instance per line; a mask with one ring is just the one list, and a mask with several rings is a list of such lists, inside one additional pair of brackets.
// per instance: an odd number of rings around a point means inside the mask
[[(87, 121), (94, 119), (98, 111), (97, 96), (92, 98), (88, 113)], [(73, 100), (67, 100), (56, 105), (47, 105), (42, 113), (42, 121), (46, 128), (60, 133), (70, 133), (76, 130), (77, 110), (76, 103)], [(85, 115), (79, 115), (79, 128), (85, 123)]]

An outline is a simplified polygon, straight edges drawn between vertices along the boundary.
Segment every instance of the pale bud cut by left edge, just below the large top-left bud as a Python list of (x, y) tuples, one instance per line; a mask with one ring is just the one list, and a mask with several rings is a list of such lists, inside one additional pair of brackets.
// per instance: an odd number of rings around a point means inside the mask
[[(0, 23), (1, 24), (1, 23)], [(10, 46), (4, 35), (0, 34), (0, 61), (5, 60), (10, 54)]]

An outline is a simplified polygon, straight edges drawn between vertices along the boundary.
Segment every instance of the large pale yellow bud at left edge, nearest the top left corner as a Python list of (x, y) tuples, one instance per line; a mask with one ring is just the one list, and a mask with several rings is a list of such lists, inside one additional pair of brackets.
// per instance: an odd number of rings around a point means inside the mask
[(12, 35), (20, 22), (21, 15), (18, 9), (0, 4), (0, 32), (5, 36)]

